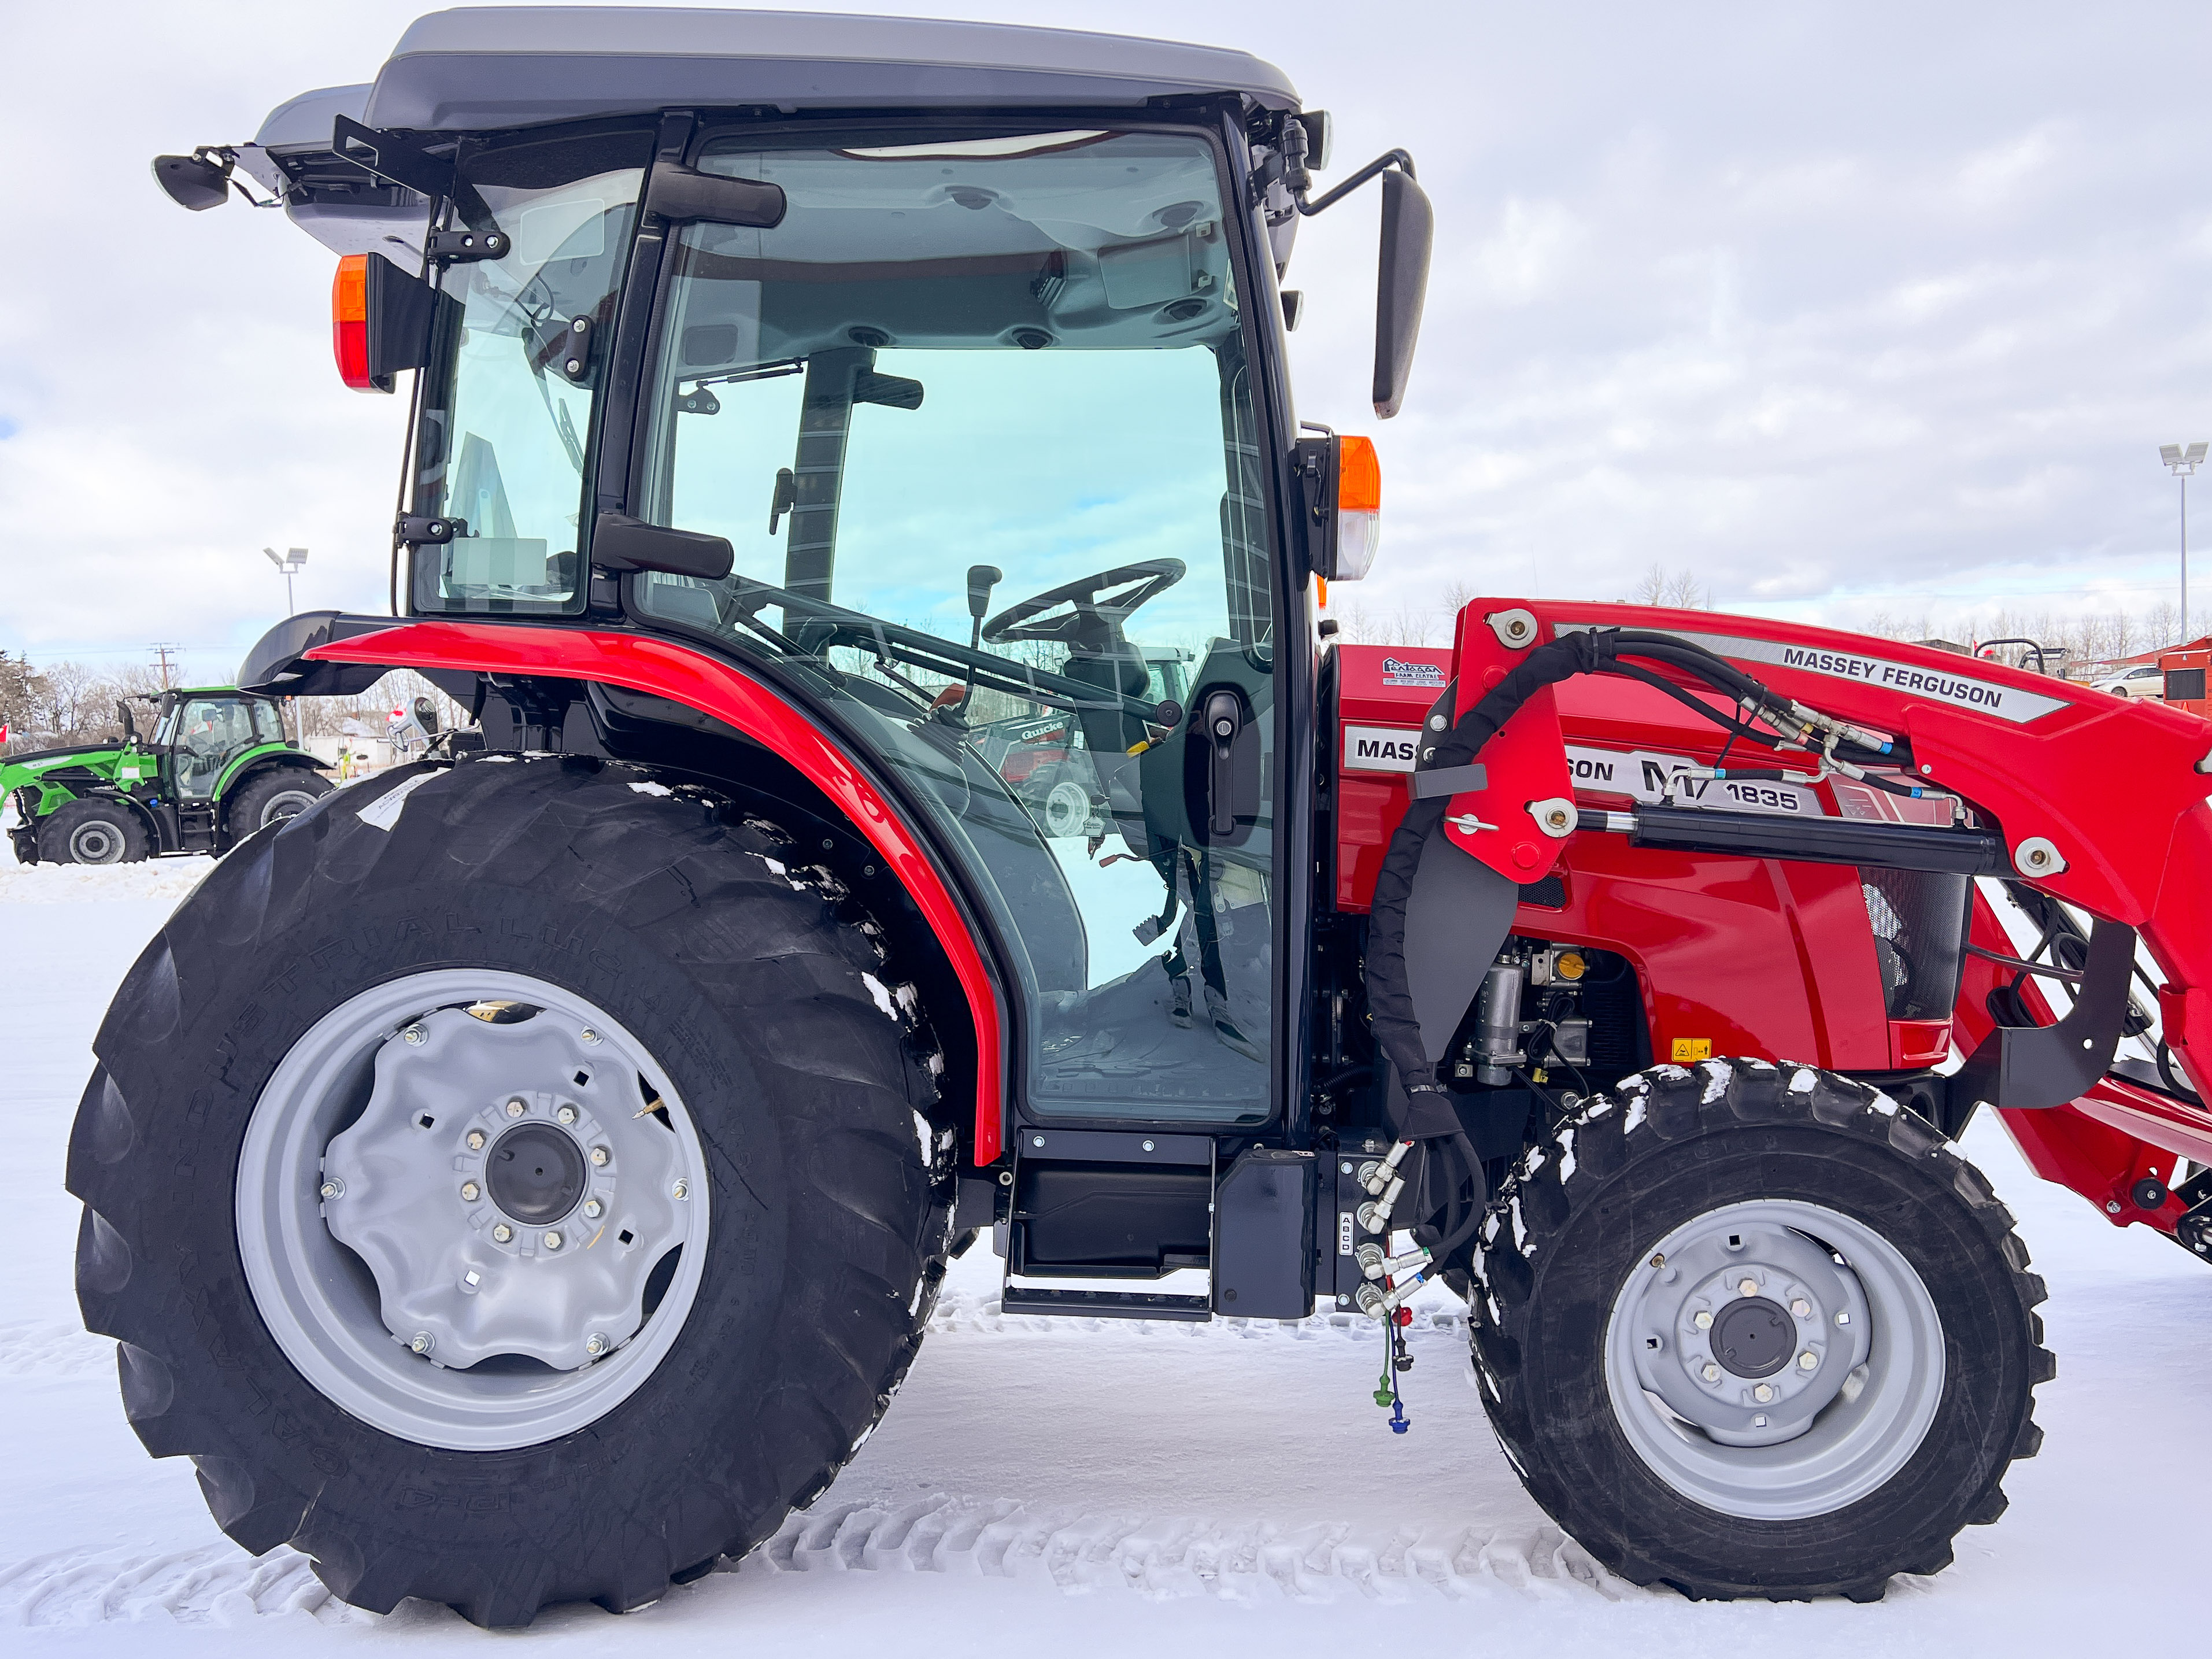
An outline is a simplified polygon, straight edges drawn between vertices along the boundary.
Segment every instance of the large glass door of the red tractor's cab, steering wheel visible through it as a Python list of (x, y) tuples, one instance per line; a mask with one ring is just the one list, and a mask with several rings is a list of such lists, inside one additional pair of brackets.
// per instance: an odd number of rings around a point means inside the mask
[[(1033, 1110), (1263, 1115), (1270, 560), (1214, 148), (699, 166), (790, 208), (672, 243), (639, 515), (737, 571), (633, 604), (779, 659), (940, 814), (1024, 953)], [(1241, 721), (1217, 827), (1210, 692)]]

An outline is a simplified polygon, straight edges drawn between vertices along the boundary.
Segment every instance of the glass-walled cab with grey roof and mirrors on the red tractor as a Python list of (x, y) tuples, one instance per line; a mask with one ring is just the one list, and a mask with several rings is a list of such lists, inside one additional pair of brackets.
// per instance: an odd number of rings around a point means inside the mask
[[(1427, 279), (1413, 164), (1318, 195), (1327, 150), (1327, 115), (1234, 51), (456, 11), (374, 86), (157, 173), (279, 192), (341, 252), (347, 385), (418, 372), (411, 617), (650, 635), (772, 686), (989, 940), (991, 1139), (1210, 1148), (1305, 1097), (1307, 591), (1371, 551), (1374, 502), (1336, 500), (1340, 449), (1371, 451), (1292, 411), (1281, 276), (1298, 219), (1380, 177), (1385, 416)], [(518, 748), (624, 752), (591, 712), (613, 692), (447, 688)], [(1066, 1263), (1161, 1272), (1104, 1243), (1117, 1203), (1077, 1206), (1108, 1221)]]

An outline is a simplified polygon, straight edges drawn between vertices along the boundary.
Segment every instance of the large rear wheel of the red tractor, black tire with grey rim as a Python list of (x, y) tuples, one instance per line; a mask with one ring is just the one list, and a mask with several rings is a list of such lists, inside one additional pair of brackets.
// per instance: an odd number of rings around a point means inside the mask
[(633, 1608), (752, 1548), (945, 1272), (887, 973), (781, 832), (635, 768), (418, 765), (252, 836), (126, 978), (71, 1139), (146, 1449), (374, 1610)]

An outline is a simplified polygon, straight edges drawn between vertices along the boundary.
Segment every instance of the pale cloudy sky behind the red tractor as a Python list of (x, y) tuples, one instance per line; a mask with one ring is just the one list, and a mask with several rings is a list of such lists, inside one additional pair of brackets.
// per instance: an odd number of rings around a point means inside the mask
[[(1369, 604), (1652, 564), (1838, 624), (2174, 595), (2157, 445), (2212, 438), (2203, 7), (874, 9), (1245, 46), (1336, 113), (1338, 170), (1413, 150), (1438, 259), (1396, 422), (1374, 195), (1290, 276), (1301, 414), (1383, 442)], [(9, 7), (0, 648), (228, 675), (283, 608), (265, 544), (312, 549), (301, 608), (383, 608), (400, 400), (332, 369), (332, 259), (179, 212), (146, 159), (372, 77), (416, 11)]]

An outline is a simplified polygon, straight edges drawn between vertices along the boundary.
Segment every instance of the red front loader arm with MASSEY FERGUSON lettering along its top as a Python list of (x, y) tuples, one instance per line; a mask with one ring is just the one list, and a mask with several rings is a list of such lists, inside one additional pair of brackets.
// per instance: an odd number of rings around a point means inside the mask
[[(1515, 615), (1535, 619), (1526, 644), (1513, 644)], [(2108, 960), (2093, 962), (2093, 969), (2132, 962), (2132, 940), (2121, 929), (2141, 933), (2166, 978), (2159, 1002), (2168, 1044), (2197, 1091), (2205, 1093), (2212, 1082), (2212, 805), (2205, 799), (2212, 790), (2212, 776), (2205, 776), (2212, 770), (2212, 721), (1993, 661), (1829, 628), (1703, 611), (1526, 599), (1475, 599), (1460, 613), (1455, 666), (1462, 719), (1548, 641), (1613, 628), (1699, 646), (1781, 697), (1896, 739), (1887, 757), (1896, 781), (1911, 779), (1960, 796), (1978, 825), (1995, 832), (2000, 856), (2011, 865), (2004, 874), (2101, 922), (2101, 951), (2093, 949), (2093, 956)], [(1690, 675), (1650, 664), (1641, 670), (1694, 690), (1719, 714), (1732, 712), (1728, 697)], [(1557, 752), (1562, 739), (1548, 697), (1517, 706), (1500, 737), (1517, 737), (1511, 754), (1524, 754), (1533, 734), (1526, 728), (1546, 723), (1546, 743), (1537, 748)], [(1491, 757), (1491, 745), (1484, 745), (1482, 759), (1489, 763)], [(1812, 772), (1818, 757), (1803, 750), (1776, 757), (1739, 745), (1732, 761), (1745, 770), (1783, 765)], [(1478, 823), (1526, 825), (1528, 801), (1557, 794), (1555, 763), (1528, 776), (1520, 776), (1513, 763), (1486, 770), (1486, 787), (1475, 785), (1480, 796), (1455, 796), (1453, 812), (1462, 812), (1464, 801), (1467, 810), (1480, 807)], [(1447, 818), (1447, 825), (1455, 823)], [(1588, 832), (1588, 814), (1582, 825)], [(1462, 845), (1480, 858), (1482, 841), (1475, 832), (1467, 836), (1473, 845)], [(1542, 847), (1544, 869), (1559, 845)], [(1513, 874), (1533, 880), (1542, 869), (1520, 867)], [(2059, 1026), (2037, 1031), (2013, 1057), (2011, 1071), (2022, 1073), (2022, 1086), (2035, 1082), (2028, 1071), (2048, 1071), (2062, 1057), (2057, 1042), (2075, 1048), (2090, 1044), (2086, 1057), (2095, 1064), (2084, 1086), (2104, 1071), (2124, 1013), (2126, 967), (2117, 975), (2093, 971), (2093, 980), (2112, 982), (2115, 1006), (2088, 1006), (2112, 1002), (2110, 995), (2081, 998), (2073, 1029), (2064, 1035), (2053, 1035)], [(2112, 1026), (2110, 1033), (2101, 1031), (2104, 1024)], [(2194, 1051), (2192, 1033), (2201, 1044)], [(2002, 1055), (1991, 1046), (1978, 1064), (1993, 1073), (1984, 1086), (1995, 1093)], [(2064, 1071), (2048, 1073), (2044, 1086), (2062, 1082)]]

